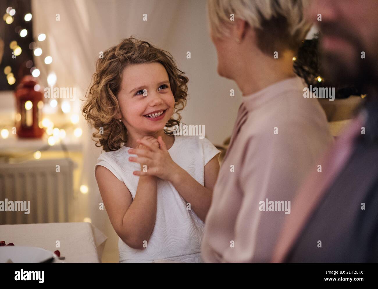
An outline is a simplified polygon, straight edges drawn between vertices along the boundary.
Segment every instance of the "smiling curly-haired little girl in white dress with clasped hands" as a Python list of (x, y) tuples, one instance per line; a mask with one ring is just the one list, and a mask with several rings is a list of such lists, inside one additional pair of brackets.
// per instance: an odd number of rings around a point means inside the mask
[(95, 176), (121, 263), (202, 262), (220, 151), (168, 130), (186, 104), (183, 74), (171, 54), (133, 37), (96, 64), (83, 113), (105, 151)]

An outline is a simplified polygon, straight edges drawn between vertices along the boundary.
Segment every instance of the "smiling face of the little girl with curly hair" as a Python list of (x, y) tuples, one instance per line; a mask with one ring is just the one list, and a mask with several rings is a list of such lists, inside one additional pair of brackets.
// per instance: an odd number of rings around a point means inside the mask
[(127, 66), (117, 97), (122, 114), (119, 118), (136, 136), (163, 130), (175, 107), (167, 71), (158, 62)]

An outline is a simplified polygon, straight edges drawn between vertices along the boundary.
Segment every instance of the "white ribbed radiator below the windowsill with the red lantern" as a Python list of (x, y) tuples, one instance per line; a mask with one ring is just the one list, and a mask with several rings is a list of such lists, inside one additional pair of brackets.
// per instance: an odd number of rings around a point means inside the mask
[[(60, 172), (56, 172), (56, 165)], [(0, 201), (5, 206), (6, 201), (8, 205), (10, 201), (30, 201), (29, 214), (1, 210), (0, 224), (73, 221), (74, 168), (68, 158), (0, 164)]]

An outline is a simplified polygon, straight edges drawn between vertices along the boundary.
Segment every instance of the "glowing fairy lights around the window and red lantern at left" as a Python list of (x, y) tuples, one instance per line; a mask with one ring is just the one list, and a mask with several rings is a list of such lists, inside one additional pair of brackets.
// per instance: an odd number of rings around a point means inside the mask
[[(8, 7), (6, 9), (6, 13), (3, 15), (3, 20), (8, 24), (11, 25), (14, 22), (15, 17), (17, 17), (16, 10), (12, 7)], [(20, 16), (21, 17), (21, 16)], [(29, 22), (32, 19), (33, 15), (31, 13), (27, 13), (23, 15), (23, 19), (25, 22)], [(22, 28), (21, 26), (17, 26), (16, 32), (18, 33), (19, 37), (26, 37), (29, 33), (28, 29)], [(29, 49), (33, 50), (33, 54), (35, 57), (43, 57), (43, 51), (42, 48), (40, 48), (38, 45), (40, 45), (40, 42), (43, 42), (46, 40), (46, 34), (45, 33), (39, 33), (37, 35), (37, 43), (36, 42), (31, 42), (29, 43)], [(12, 49), (13, 53), (15, 56), (19, 56), (22, 53), (22, 47), (17, 43), (17, 40), (12, 40), (9, 43), (9, 48)], [(47, 55), (44, 58), (44, 63), (46, 65), (50, 65), (53, 62), (53, 57)], [(33, 60), (28, 60), (25, 63), (26, 68), (30, 69), (30, 73), (33, 77), (40, 77), (40, 70), (34, 66)], [(6, 76), (6, 79), (8, 81), (9, 85), (14, 85), (16, 82), (15, 75), (12, 73), (12, 67), (10, 65), (6, 66), (4, 68), (4, 74)], [(57, 81), (56, 74), (51, 71), (48, 76), (47, 76), (47, 83), (50, 87), (53, 87)], [(39, 84), (36, 84), (34, 86), (35, 91), (40, 91), (41, 86)], [(44, 104), (42, 101), (38, 103), (38, 108), (42, 109), (45, 108), (46, 104)], [(58, 109), (58, 101), (56, 99), (51, 99), (50, 102), (47, 104), (49, 107), (47, 107), (50, 111), (56, 112)], [(33, 107), (33, 103), (28, 100), (25, 102), (25, 109), (26, 110), (31, 110)], [(54, 123), (48, 118), (44, 117), (42, 120), (39, 121), (38, 125), (40, 128), (45, 129), (45, 133), (47, 134), (47, 143), (50, 146), (59, 144), (65, 139), (66, 137), (66, 129), (71, 129), (73, 132), (73, 136), (76, 138), (79, 138), (82, 135), (82, 129), (80, 127), (75, 127), (79, 123), (79, 115), (75, 113), (71, 113), (71, 105), (69, 101), (63, 101), (60, 105), (60, 109), (64, 114), (70, 115), (69, 119), (70, 121), (66, 121), (64, 124), (60, 125), (60, 128), (56, 127)], [(53, 114), (53, 113), (52, 113)], [(15, 115), (15, 121), (20, 121), (21, 115), (17, 113)], [(75, 128), (74, 128), (75, 127)], [(6, 127), (3, 127), (1, 129), (1, 138), (2, 139), (7, 139), (9, 137), (9, 130)], [(45, 147), (44, 147), (45, 148)], [(47, 147), (48, 148), (48, 147)], [(42, 156), (41, 150), (46, 150), (45, 149), (39, 149), (33, 152), (33, 157), (35, 159), (40, 159)]]

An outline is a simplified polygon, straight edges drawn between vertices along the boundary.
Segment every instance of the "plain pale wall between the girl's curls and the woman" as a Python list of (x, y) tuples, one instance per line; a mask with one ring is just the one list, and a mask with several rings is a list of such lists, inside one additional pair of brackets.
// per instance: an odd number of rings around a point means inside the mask
[[(206, 137), (222, 144), (231, 135), (241, 93), (236, 83), (217, 74), (217, 52), (209, 37), (206, 1), (183, 1), (167, 48), (189, 77), (185, 124), (205, 125)], [(191, 59), (186, 52), (191, 52)], [(230, 96), (230, 90), (235, 96)]]

